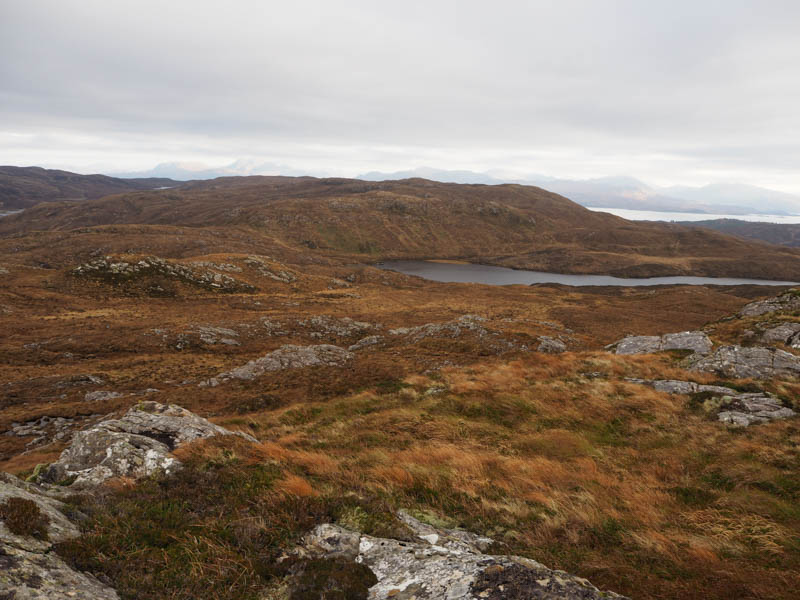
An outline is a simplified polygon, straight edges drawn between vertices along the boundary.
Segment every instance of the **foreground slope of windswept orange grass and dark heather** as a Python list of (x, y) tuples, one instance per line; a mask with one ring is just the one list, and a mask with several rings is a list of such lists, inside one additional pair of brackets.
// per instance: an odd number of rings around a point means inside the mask
[[(608, 374), (587, 378), (598, 361)], [(261, 443), (181, 449), (182, 474), (91, 501), (62, 552), (126, 597), (189, 598), (199, 581), (204, 597), (257, 597), (314, 523), (402, 535), (402, 507), (635, 598), (791, 598), (800, 430), (728, 430), (615, 375), (675, 370), (537, 356), (252, 414)], [(154, 578), (172, 591), (142, 595)]]

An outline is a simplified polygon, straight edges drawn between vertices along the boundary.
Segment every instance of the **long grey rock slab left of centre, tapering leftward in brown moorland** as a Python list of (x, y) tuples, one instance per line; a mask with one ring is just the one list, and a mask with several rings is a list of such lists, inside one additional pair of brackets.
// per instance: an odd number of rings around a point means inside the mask
[(353, 359), (353, 354), (339, 346), (330, 344), (320, 344), (317, 346), (294, 346), (287, 344), (281, 346), (274, 352), (251, 360), (244, 366), (237, 367), (231, 371), (220, 373), (199, 385), (202, 387), (216, 387), (220, 383), (231, 379), (242, 379), (245, 381), (260, 377), (270, 371), (281, 371), (283, 369), (301, 369), (303, 367), (341, 366)]

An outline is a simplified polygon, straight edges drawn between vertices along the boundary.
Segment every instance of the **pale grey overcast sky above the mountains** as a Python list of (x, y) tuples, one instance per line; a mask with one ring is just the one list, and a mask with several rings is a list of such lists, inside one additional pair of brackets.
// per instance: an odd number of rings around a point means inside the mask
[(0, 163), (800, 193), (800, 2), (0, 0)]

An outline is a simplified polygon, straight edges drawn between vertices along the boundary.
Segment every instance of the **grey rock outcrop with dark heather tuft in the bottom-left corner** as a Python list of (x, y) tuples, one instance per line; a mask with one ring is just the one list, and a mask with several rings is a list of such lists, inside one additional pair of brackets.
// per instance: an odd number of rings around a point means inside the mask
[(117, 600), (113, 589), (51, 552), (79, 534), (63, 510), (42, 488), (0, 473), (0, 597)]

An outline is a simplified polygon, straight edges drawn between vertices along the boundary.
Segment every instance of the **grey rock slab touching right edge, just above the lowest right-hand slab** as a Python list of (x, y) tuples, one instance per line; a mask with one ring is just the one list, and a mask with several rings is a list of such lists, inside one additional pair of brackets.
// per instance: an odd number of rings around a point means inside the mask
[(776, 348), (723, 346), (710, 356), (690, 359), (689, 368), (739, 379), (797, 377), (800, 357)]

